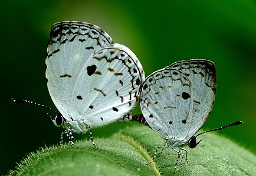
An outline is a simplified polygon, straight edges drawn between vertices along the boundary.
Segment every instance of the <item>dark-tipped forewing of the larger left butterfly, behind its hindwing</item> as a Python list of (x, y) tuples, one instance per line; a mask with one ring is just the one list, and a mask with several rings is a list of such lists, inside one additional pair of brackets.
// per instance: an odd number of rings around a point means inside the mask
[(111, 43), (106, 32), (90, 23), (60, 22), (52, 26), (45, 76), (51, 99), (65, 119), (81, 69), (96, 50)]

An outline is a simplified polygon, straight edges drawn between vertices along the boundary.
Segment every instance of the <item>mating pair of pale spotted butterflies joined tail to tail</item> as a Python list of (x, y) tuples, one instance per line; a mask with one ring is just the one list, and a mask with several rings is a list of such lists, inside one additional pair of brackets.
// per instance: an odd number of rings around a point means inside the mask
[[(45, 63), (48, 91), (60, 113), (32, 101), (12, 101), (37, 104), (53, 111), (54, 117), (48, 115), (55, 126), (65, 128), (61, 144), (64, 134), (73, 147), (72, 133), (89, 131), (97, 147), (91, 128), (120, 120), (148, 124), (166, 140), (166, 145), (159, 148), (171, 147), (178, 153), (178, 160), (180, 155), (184, 157), (182, 151), (187, 153), (183, 146), (194, 148), (200, 143), (201, 140), (196, 142), (200, 134), (194, 135), (208, 119), (216, 94), (215, 65), (211, 61), (183, 60), (145, 79), (134, 53), (114, 43), (98, 26), (60, 22), (51, 28)], [(137, 100), (143, 115), (132, 117)]]

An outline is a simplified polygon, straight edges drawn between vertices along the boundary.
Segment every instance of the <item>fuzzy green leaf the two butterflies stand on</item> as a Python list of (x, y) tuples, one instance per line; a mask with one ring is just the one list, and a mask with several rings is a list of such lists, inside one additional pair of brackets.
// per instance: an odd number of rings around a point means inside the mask
[[(216, 133), (188, 150), (189, 163), (178, 163), (176, 175), (256, 175), (256, 157), (233, 141)], [(147, 164), (165, 140), (146, 126), (126, 127), (110, 138), (76, 141), (75, 147), (44, 147), (22, 160), (11, 175), (174, 175), (177, 153), (171, 148)]]

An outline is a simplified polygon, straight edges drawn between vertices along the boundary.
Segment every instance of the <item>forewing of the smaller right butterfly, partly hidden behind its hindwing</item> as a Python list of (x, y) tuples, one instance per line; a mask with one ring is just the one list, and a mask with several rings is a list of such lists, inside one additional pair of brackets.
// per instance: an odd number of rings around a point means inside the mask
[(175, 62), (166, 68), (180, 70), (191, 82), (193, 109), (187, 120), (187, 141), (204, 126), (212, 111), (216, 94), (215, 65), (209, 60), (192, 59)]

